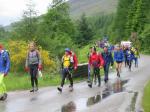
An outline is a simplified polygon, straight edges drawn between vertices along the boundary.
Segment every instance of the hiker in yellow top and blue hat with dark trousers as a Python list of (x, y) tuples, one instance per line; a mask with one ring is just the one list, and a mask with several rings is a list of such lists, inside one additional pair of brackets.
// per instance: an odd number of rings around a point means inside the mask
[(65, 49), (65, 55), (62, 57), (62, 81), (61, 81), (61, 86), (58, 87), (58, 91), (62, 92), (64, 83), (65, 83), (65, 79), (68, 77), (69, 81), (70, 81), (70, 91), (73, 90), (73, 78), (72, 78), (72, 73), (71, 73), (71, 56), (70, 56), (70, 49), (66, 48)]

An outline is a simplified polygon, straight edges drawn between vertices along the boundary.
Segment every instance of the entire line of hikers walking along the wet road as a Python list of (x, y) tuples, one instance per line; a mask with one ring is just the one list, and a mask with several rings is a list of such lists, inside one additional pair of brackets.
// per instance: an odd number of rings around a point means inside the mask
[[(138, 67), (139, 52), (137, 48), (128, 46), (116, 45), (114, 50), (109, 50), (108, 46), (103, 47), (103, 52), (97, 52), (96, 47), (90, 47), (88, 53), (88, 86), (92, 88), (93, 82), (97, 83), (98, 87), (101, 86), (100, 70), (104, 70), (104, 82), (109, 80), (109, 69), (116, 64), (117, 76), (120, 77), (121, 68), (123, 62), (125, 67), (129, 67), (131, 71), (133, 60), (135, 61), (135, 67)], [(63, 91), (65, 80), (69, 79), (69, 90), (73, 91), (73, 73), (78, 68), (78, 60), (76, 54), (69, 48), (65, 49), (65, 53), (62, 57), (62, 80), (58, 91)], [(10, 57), (9, 52), (4, 49), (0, 44), (0, 100), (7, 98), (6, 87), (4, 84), (4, 77), (7, 76), (10, 69)], [(30, 92), (38, 91), (38, 72), (42, 70), (41, 54), (37, 50), (34, 42), (29, 44), (29, 50), (26, 56), (25, 71), (30, 73), (31, 86)]]

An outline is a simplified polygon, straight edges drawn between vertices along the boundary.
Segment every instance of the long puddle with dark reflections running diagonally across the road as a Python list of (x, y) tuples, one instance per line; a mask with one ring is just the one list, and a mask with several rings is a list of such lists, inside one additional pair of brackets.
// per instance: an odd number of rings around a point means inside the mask
[(100, 103), (103, 99), (109, 97), (110, 95), (123, 92), (125, 90), (123, 86), (127, 82), (128, 80), (120, 80), (118, 78), (113, 84), (105, 84), (105, 89), (95, 96), (89, 98), (80, 98), (76, 101), (71, 101), (68, 104), (63, 105), (60, 112), (78, 112), (86, 109), (87, 107)]

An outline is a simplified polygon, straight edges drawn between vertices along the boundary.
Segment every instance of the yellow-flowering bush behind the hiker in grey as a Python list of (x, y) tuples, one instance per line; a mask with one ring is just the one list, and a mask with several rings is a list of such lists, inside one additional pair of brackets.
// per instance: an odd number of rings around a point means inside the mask
[[(8, 41), (8, 51), (10, 53), (11, 71), (18, 72), (24, 70), (25, 60), (28, 51), (28, 43), (25, 41)], [(40, 47), (44, 70), (56, 68), (56, 63), (50, 58), (49, 52)]]

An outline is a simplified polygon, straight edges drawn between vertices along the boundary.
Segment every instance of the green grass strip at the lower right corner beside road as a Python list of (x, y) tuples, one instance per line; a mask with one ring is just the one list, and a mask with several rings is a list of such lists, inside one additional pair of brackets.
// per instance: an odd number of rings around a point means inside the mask
[(144, 89), (142, 105), (144, 108), (144, 112), (150, 112), (150, 82), (146, 85)]

